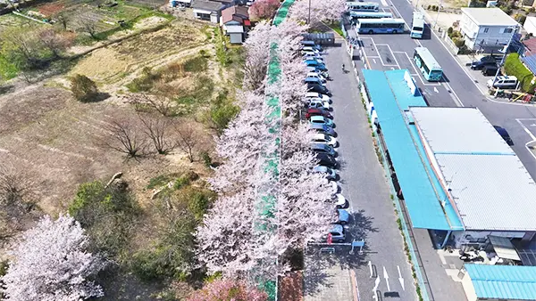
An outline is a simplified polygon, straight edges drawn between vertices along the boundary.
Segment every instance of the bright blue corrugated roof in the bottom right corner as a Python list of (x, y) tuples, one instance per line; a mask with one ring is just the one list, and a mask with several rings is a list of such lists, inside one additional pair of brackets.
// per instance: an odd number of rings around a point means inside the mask
[(536, 300), (536, 266), (465, 264), (477, 297)]

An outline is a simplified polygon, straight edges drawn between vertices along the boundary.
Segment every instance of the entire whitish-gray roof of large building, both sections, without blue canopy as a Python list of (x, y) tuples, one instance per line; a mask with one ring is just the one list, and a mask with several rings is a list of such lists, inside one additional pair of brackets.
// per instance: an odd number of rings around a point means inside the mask
[(480, 110), (409, 110), (465, 229), (536, 231), (536, 183)]

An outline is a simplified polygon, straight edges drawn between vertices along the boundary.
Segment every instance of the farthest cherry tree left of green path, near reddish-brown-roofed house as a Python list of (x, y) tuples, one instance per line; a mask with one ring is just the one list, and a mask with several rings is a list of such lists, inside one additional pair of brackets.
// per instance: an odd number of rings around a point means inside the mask
[(247, 34), (244, 42), (246, 63), (244, 64), (244, 87), (255, 91), (263, 87), (264, 77), (270, 60), (270, 36), (272, 27), (263, 20)]

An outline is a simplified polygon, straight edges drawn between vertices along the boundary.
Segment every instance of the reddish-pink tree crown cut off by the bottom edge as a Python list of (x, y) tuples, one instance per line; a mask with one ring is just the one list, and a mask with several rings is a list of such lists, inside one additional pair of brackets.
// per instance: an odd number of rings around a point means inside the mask
[(243, 281), (216, 280), (196, 290), (188, 301), (265, 301), (263, 291), (252, 288)]

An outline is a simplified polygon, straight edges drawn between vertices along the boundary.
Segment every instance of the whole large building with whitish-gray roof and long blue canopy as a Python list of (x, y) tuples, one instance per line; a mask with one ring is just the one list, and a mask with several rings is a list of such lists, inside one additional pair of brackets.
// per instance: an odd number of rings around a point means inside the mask
[(532, 240), (536, 183), (480, 110), (428, 107), (405, 69), (362, 72), (369, 115), (414, 228), (431, 230), (441, 248), (489, 248), (490, 236)]

